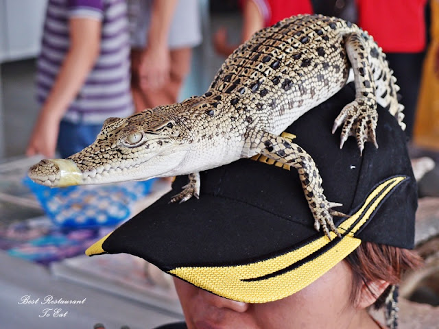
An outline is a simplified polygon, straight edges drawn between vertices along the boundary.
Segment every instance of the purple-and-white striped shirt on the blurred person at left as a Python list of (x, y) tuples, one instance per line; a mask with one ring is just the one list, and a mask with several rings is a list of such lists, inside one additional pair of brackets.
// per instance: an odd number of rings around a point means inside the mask
[(64, 114), (73, 123), (101, 124), (132, 114), (130, 36), (125, 0), (49, 0), (37, 64), (37, 97), (49, 95), (69, 50), (69, 19), (102, 22), (100, 53), (78, 95)]

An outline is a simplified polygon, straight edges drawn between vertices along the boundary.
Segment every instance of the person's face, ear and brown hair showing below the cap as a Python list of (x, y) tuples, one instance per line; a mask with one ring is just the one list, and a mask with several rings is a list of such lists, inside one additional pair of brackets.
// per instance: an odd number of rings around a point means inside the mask
[(250, 304), (219, 297), (174, 278), (189, 328), (376, 328), (366, 313), (381, 308), (401, 273), (419, 265), (407, 249), (361, 243), (297, 293)]

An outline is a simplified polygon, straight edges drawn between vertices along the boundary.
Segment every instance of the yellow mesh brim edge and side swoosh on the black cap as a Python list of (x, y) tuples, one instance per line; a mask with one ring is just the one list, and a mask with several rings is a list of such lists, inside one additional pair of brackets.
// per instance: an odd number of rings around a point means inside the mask
[[(178, 267), (169, 273), (230, 300), (248, 303), (280, 300), (307, 287), (351, 254), (361, 243), (353, 234), (368, 221), (385, 196), (404, 179), (405, 177), (390, 178), (377, 186), (363, 206), (338, 226), (340, 232), (349, 231), (348, 234), (319, 256), (311, 255), (331, 243), (327, 236), (321, 236), (287, 254), (257, 263), (222, 267)], [(357, 224), (351, 228), (355, 222)], [(331, 232), (331, 239), (334, 238), (335, 234)], [(306, 261), (308, 256), (311, 256), (310, 260)], [(300, 261), (304, 263), (288, 269)]]

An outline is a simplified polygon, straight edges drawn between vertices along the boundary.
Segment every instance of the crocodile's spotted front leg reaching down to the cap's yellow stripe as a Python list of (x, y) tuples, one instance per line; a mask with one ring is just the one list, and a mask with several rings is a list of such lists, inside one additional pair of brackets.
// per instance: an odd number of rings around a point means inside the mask
[(323, 194), (322, 178), (318, 172), (316, 162), (299, 145), (288, 141), (286, 138), (263, 132), (257, 151), (268, 158), (296, 168), (302, 183), (305, 198), (314, 217), (314, 228), (324, 231), (331, 239), (330, 231), (341, 236), (333, 222), (333, 216), (346, 217), (342, 212), (332, 210), (332, 207), (342, 206), (329, 202)]

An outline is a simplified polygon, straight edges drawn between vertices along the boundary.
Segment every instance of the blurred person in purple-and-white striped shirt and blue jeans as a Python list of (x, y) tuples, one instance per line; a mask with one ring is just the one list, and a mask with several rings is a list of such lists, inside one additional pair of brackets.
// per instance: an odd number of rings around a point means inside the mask
[(124, 0), (49, 0), (36, 84), (41, 105), (27, 155), (62, 158), (95, 141), (108, 117), (132, 114)]

